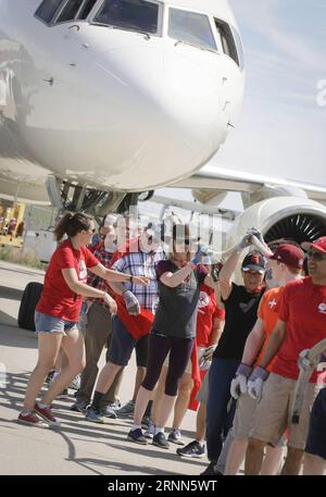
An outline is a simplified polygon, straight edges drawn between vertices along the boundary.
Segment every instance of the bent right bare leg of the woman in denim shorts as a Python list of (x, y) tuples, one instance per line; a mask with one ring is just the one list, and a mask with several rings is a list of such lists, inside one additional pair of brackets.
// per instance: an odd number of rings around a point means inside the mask
[(66, 388), (72, 380), (83, 371), (86, 364), (84, 337), (79, 330), (73, 330), (62, 338), (61, 346), (67, 357), (67, 365), (61, 370), (51, 387), (45, 394), (42, 402), (50, 405)]

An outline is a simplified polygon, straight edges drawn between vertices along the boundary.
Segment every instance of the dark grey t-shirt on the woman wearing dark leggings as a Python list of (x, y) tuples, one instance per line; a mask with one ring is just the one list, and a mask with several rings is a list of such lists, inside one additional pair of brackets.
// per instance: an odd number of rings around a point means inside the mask
[(160, 301), (152, 333), (176, 338), (195, 338), (199, 287), (208, 272), (203, 266), (198, 266), (175, 288), (161, 282), (162, 274), (175, 273), (179, 269), (172, 261), (160, 261), (156, 265)]

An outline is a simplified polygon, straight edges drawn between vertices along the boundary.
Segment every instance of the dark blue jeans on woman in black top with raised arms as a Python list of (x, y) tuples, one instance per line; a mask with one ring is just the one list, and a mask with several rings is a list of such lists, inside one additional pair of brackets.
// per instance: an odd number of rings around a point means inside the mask
[(210, 368), (206, 413), (206, 443), (210, 461), (217, 462), (223, 440), (233, 425), (236, 402), (231, 399), (229, 389), (239, 364), (240, 361), (234, 359), (215, 358)]

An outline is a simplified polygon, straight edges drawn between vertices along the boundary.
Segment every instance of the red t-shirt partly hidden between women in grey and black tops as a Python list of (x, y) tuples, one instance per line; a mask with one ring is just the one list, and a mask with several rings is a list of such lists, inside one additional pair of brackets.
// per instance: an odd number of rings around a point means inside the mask
[(215, 318), (223, 320), (225, 318), (225, 311), (216, 306), (214, 289), (202, 284), (200, 285), (196, 330), (198, 347), (208, 347), (211, 345), (212, 325)]

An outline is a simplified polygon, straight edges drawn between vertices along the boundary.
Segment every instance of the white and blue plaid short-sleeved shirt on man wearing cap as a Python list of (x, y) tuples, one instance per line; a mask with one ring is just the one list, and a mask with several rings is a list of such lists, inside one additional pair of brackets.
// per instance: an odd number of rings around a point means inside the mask
[(153, 313), (159, 302), (159, 289), (156, 281), (155, 266), (159, 261), (166, 259), (162, 248), (155, 252), (130, 252), (118, 259), (112, 265), (113, 270), (122, 273), (131, 274), (133, 276), (147, 276), (150, 283), (147, 286), (134, 285), (131, 282), (124, 283), (126, 290), (133, 291), (137, 297), (140, 307), (151, 310)]

